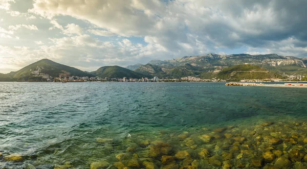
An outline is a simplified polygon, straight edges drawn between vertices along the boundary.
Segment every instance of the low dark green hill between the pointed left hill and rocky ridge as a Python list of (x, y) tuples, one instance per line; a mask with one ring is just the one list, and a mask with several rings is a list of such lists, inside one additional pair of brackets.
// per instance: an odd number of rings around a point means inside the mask
[(136, 73), (135, 71), (120, 67), (120, 66), (104, 66), (100, 67), (96, 71), (92, 71), (91, 74), (100, 78), (136, 78), (140, 79), (145, 77), (142, 74)]

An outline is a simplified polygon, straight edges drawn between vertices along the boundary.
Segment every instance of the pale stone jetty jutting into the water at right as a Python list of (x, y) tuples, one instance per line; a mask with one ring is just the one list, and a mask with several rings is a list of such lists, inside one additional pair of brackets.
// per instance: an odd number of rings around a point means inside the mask
[(297, 87), (297, 88), (307, 88), (307, 83), (264, 84), (264, 83), (229, 82), (229, 83), (226, 83), (225, 86), (266, 86), (266, 87)]

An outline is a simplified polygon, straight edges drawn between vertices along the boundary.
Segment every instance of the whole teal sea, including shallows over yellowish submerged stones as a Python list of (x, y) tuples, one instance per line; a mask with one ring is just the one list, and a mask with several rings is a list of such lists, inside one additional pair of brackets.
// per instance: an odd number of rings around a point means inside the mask
[(0, 82), (0, 168), (307, 167), (306, 94), (210, 82)]

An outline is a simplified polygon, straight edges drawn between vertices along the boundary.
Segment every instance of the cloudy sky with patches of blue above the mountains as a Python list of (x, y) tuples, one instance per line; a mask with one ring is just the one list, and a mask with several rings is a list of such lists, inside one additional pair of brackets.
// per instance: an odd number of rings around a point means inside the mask
[(0, 73), (214, 54), (306, 57), (305, 0), (0, 0)]

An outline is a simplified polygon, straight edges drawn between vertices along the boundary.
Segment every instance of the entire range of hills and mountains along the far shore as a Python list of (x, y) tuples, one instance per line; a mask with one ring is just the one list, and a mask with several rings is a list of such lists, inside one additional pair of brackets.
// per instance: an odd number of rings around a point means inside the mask
[[(255, 65), (238, 66), (236, 65)], [(18, 71), (12, 71), (9, 74), (0, 74), (0, 81), (43, 81), (41, 75), (48, 75), (53, 78), (60, 75), (78, 76), (78, 77), (100, 77), (100, 78), (134, 78), (143, 77), (152, 78), (183, 78), (199, 77), (203, 79), (226, 78), (228, 80), (239, 80), (245, 77), (260, 78), (282, 78), (282, 76), (307, 76), (307, 59), (291, 56), (279, 56), (277, 54), (268, 55), (217, 55), (208, 54), (201, 56), (189, 56), (171, 60), (151, 60), (147, 64), (136, 64), (127, 66), (103, 66), (96, 71), (85, 72), (74, 67), (62, 65), (49, 59), (42, 59), (30, 64)], [(234, 67), (231, 67), (234, 66)], [(230, 68), (228, 68), (230, 67)], [(227, 69), (228, 68), (228, 69)], [(250, 72), (237, 73), (238, 69)], [(261, 70), (261, 71), (259, 71)], [(235, 71), (236, 73), (231, 73)], [(262, 74), (254, 76), (255, 71)], [(237, 78), (228, 77), (226, 74), (239, 75)], [(247, 75), (248, 74), (248, 75)], [(253, 75), (252, 75), (253, 74)], [(40, 75), (37, 76), (37, 75)], [(228, 77), (228, 78), (227, 78)]]

